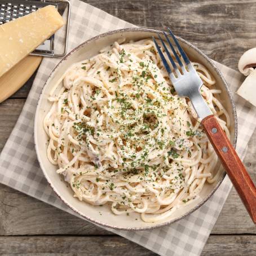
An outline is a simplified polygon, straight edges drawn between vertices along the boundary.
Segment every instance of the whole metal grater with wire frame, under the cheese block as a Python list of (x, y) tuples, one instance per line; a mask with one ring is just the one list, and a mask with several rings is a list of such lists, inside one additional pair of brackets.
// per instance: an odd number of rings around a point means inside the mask
[(15, 20), (19, 17), (37, 11), (39, 8), (47, 5), (53, 5), (57, 8), (60, 15), (67, 8), (67, 20), (65, 22), (65, 45), (63, 52), (58, 54), (54, 51), (54, 35), (48, 38), (42, 45), (39, 45), (31, 55), (50, 56), (50, 57), (63, 57), (67, 53), (68, 45), (68, 29), (70, 19), (70, 2), (68, 0), (0, 0), (0, 25), (8, 21)]

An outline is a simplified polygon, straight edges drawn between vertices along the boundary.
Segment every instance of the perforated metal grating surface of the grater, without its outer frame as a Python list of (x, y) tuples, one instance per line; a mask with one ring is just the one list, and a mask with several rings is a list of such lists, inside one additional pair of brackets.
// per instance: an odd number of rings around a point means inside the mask
[[(0, 25), (30, 14), (47, 5), (54, 5), (58, 8), (58, 3), (50, 1), (0, 0)], [(34, 51), (34, 53), (38, 54), (41, 52), (46, 54), (54, 53), (54, 36), (51, 36)]]

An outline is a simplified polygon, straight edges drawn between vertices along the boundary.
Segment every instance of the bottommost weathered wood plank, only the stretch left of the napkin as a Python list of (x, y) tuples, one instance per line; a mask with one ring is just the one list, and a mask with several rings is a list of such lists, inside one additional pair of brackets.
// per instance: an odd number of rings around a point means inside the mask
[(2, 256), (156, 255), (119, 236), (10, 236), (0, 244)]

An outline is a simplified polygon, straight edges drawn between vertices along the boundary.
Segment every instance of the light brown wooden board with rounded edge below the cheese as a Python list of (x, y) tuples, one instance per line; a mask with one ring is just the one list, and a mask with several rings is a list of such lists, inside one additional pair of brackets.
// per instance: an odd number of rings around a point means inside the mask
[(0, 77), (0, 103), (29, 80), (42, 61), (42, 56), (27, 56)]

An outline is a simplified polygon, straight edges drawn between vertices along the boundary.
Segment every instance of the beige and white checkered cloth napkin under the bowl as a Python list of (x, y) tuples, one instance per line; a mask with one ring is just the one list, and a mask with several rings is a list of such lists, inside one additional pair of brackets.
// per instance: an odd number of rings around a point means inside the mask
[[(134, 25), (117, 19), (86, 3), (72, 0), (69, 50), (97, 34), (128, 27), (134, 27)], [(59, 42), (63, 41), (61, 33), (59, 38), (56, 39)], [(38, 165), (34, 149), (33, 126), (37, 101), (42, 86), (58, 62), (58, 59), (45, 58), (38, 69), (23, 111), (1, 153), (0, 182), (68, 211), (70, 214), (77, 215), (55, 195), (46, 182), (45, 176), (43, 176)], [(235, 92), (241, 84), (242, 77), (240, 73), (222, 64), (216, 63), (216, 65), (226, 78), (232, 92)], [(240, 157), (243, 158), (246, 145), (256, 126), (256, 108), (247, 105), (237, 95), (235, 95), (235, 101), (239, 120), (236, 149)], [(200, 255), (231, 188), (231, 182), (226, 177), (210, 200), (202, 205), (200, 209), (169, 226), (151, 231), (136, 232), (108, 230), (160, 255)]]

